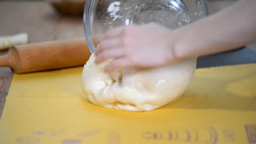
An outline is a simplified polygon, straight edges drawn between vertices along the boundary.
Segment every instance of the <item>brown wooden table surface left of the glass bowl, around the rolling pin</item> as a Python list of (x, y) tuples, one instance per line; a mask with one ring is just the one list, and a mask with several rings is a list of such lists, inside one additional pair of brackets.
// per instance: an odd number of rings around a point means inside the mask
[[(84, 37), (83, 17), (61, 16), (44, 1), (1, 1), (0, 36), (28, 33), (28, 43)], [(0, 67), (0, 117), (13, 72)]]

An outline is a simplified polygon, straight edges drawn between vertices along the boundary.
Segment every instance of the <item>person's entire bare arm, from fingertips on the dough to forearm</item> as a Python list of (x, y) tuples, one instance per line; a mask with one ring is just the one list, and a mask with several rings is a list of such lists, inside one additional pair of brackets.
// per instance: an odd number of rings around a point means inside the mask
[(170, 30), (157, 24), (106, 32), (96, 64), (114, 61), (106, 72), (128, 67), (160, 67), (182, 59), (228, 51), (256, 40), (256, 0), (240, 0), (224, 11)]

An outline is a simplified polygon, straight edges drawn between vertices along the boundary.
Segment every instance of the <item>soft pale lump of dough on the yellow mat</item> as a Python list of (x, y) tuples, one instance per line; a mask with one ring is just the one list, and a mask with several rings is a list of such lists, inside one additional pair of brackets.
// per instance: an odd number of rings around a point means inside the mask
[(150, 111), (170, 103), (185, 91), (196, 68), (196, 59), (189, 59), (168, 67), (106, 74), (109, 61), (96, 65), (94, 60), (92, 54), (82, 74), (88, 101), (126, 111)]

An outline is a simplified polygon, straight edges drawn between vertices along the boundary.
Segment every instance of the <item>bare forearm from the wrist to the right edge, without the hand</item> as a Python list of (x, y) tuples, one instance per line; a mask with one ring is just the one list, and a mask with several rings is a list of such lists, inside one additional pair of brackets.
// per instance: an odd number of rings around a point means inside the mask
[(256, 40), (256, 0), (240, 0), (220, 13), (172, 32), (176, 57), (228, 51)]

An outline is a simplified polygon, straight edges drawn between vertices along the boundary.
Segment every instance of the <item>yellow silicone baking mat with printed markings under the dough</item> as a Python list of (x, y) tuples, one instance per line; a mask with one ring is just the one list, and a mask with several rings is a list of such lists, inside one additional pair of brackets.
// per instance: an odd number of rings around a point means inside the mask
[(256, 64), (197, 69), (182, 96), (151, 112), (89, 103), (82, 70), (14, 75), (0, 144), (256, 143)]

